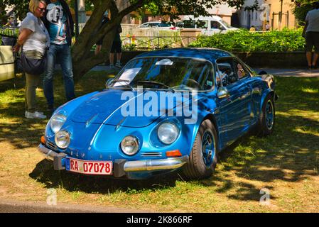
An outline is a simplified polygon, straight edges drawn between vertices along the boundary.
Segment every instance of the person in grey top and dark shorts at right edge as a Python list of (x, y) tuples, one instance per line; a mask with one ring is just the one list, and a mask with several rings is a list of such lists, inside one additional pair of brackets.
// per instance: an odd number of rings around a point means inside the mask
[[(313, 10), (309, 11), (306, 16), (306, 26), (303, 29), (303, 37), (306, 38), (306, 57), (308, 69), (317, 68), (319, 57), (319, 2), (313, 3)], [(315, 53), (313, 54), (313, 47)]]

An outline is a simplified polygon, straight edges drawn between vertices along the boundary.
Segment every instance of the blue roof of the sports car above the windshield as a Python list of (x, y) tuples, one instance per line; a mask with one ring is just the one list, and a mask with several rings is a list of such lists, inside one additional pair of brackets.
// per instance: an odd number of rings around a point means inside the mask
[(144, 52), (136, 57), (195, 57), (215, 62), (220, 57), (233, 57), (232, 53), (215, 48), (172, 48)]

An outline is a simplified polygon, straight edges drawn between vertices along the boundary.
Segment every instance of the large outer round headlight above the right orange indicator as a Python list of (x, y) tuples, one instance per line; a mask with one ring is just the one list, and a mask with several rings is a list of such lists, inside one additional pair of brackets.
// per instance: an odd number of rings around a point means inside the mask
[(157, 135), (158, 139), (161, 140), (162, 143), (171, 144), (174, 143), (178, 138), (180, 130), (175, 123), (162, 123), (161, 126), (158, 127)]

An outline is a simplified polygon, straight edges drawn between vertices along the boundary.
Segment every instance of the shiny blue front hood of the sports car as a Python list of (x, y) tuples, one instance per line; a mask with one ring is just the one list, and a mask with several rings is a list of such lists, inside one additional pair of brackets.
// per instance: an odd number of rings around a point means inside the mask
[[(144, 110), (150, 109), (150, 100), (154, 98), (160, 101), (160, 92), (151, 92), (153, 94), (151, 99), (146, 99), (145, 94), (147, 92), (145, 90), (144, 92), (125, 92), (127, 90), (108, 89), (91, 96), (90, 99), (83, 101), (72, 112), (72, 121), (140, 128), (148, 126), (163, 115), (163, 109), (157, 108), (157, 111), (155, 109), (155, 111), (151, 111), (152, 114), (144, 116)], [(174, 93), (168, 92), (166, 94), (169, 99)], [(171, 106), (175, 109), (176, 106), (184, 104), (190, 98), (188, 96), (180, 96), (172, 99), (173, 104)], [(145, 100), (141, 102), (143, 99)], [(128, 115), (128, 113), (130, 114)]]

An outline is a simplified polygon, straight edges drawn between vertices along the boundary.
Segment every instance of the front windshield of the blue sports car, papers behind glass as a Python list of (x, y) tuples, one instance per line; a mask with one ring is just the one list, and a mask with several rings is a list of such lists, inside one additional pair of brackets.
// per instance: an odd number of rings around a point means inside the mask
[(110, 87), (143, 86), (148, 89), (212, 89), (212, 64), (186, 57), (145, 57), (132, 60)]

